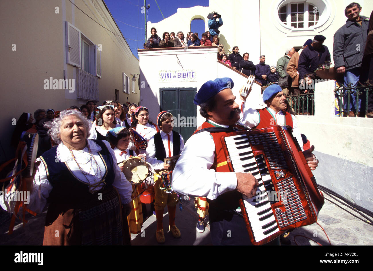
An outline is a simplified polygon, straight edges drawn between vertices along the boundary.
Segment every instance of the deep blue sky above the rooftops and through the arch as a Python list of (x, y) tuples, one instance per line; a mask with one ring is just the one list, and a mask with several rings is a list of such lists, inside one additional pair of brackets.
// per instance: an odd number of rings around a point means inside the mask
[[(141, 7), (144, 6), (144, 0), (104, 0), (104, 2), (109, 8), (110, 13), (112, 13), (116, 24), (120, 28), (120, 31), (122, 31), (122, 34), (125, 37), (129, 48), (131, 48), (133, 54), (138, 58), (137, 49), (142, 49), (142, 45), (145, 42), (145, 18), (144, 14), (141, 13)], [(157, 6), (157, 3), (159, 8)], [(150, 9), (147, 13), (147, 20), (153, 23), (163, 20), (161, 11), (163, 13), (163, 16), (167, 18), (176, 13), (179, 7), (209, 6), (209, 0), (157, 0), (157, 3), (155, 0), (146, 0), (146, 4), (150, 4)], [(175, 33), (179, 31), (178, 29), (172, 28), (157, 30), (157, 34), (161, 38), (164, 31), (173, 31)], [(201, 35), (201, 32), (204, 31), (203, 21), (193, 21), (192, 31), (198, 32)]]

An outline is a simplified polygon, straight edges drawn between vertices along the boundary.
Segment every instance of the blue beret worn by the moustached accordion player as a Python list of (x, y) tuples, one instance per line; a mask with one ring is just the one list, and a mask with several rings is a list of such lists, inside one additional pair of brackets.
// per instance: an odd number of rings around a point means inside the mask
[(194, 97), (194, 104), (200, 105), (201, 103), (204, 103), (211, 97), (215, 96), (223, 89), (232, 88), (233, 81), (231, 78), (223, 77), (216, 78), (214, 81), (209, 80), (201, 86), (200, 90), (198, 90), (197, 94)]

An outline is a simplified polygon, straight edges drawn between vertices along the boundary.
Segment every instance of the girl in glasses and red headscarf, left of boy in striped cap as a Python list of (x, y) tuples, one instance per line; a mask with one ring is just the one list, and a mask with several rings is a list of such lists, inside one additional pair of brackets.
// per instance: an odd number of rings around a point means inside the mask
[[(149, 141), (150, 138), (159, 132), (157, 125), (149, 121), (149, 110), (144, 106), (138, 106), (134, 114), (135, 119), (131, 122), (131, 127), (134, 128), (138, 134), (140, 134), (145, 140)], [(139, 150), (139, 154), (145, 154), (146, 150)], [(142, 183), (144, 185), (144, 182)], [(142, 210), (144, 219), (147, 218), (146, 205), (150, 203), (150, 210), (153, 212), (153, 215), (156, 215), (154, 210), (154, 188), (153, 185), (149, 185), (144, 193), (140, 196), (142, 203)]]

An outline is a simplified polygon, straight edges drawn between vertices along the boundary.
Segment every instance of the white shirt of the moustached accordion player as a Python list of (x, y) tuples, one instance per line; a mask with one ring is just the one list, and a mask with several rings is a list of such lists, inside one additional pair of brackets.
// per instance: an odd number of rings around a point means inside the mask
[[(211, 123), (215, 124), (210, 120)], [(219, 125), (228, 127), (226, 125)], [(234, 172), (215, 172), (210, 169), (215, 158), (215, 143), (209, 132), (192, 135), (172, 172), (172, 188), (179, 194), (216, 199), (236, 189)]]

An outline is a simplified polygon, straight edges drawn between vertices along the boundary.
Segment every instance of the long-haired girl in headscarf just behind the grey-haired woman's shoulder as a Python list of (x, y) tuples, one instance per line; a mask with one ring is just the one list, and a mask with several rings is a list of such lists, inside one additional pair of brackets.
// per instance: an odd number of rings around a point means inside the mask
[(109, 130), (120, 126), (115, 121), (114, 106), (112, 105), (102, 105), (98, 106), (97, 109), (100, 110), (96, 118), (95, 124), (92, 125), (90, 130), (90, 139), (106, 140), (106, 134)]

